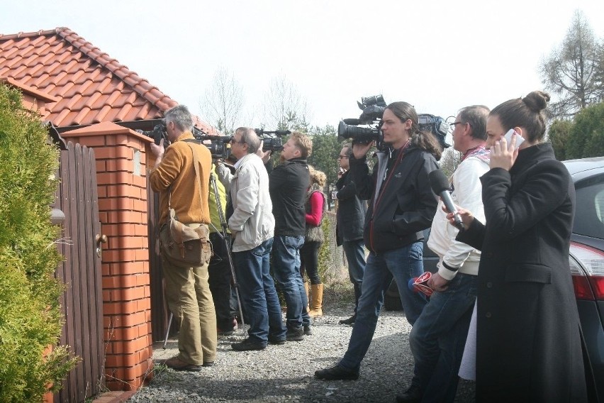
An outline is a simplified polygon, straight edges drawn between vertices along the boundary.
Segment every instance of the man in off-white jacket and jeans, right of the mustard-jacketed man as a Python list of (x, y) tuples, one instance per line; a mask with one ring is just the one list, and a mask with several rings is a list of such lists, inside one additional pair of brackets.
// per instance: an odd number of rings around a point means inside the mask
[(269, 274), (275, 221), (269, 194), (269, 176), (257, 155), (262, 141), (253, 128), (237, 128), (231, 153), (237, 158), (235, 174), (219, 165), (218, 175), (230, 184), (233, 215), (233, 263), (250, 330), (248, 338), (233, 343), (233, 350), (262, 350), (267, 343), (283, 344), (286, 328), (274, 281)]

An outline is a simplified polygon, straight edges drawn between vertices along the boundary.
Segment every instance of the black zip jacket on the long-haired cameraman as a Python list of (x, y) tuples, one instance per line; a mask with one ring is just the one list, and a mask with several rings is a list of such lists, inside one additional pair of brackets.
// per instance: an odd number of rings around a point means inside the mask
[[(364, 241), (375, 253), (423, 239), (422, 231), (430, 227), (437, 206), (428, 174), (438, 169), (434, 155), (413, 144), (403, 154), (392, 150), (391, 154), (380, 151), (377, 156), (371, 175), (366, 158), (350, 157), (357, 194), (361, 199), (371, 199), (365, 216)], [(391, 159), (392, 166), (387, 169)]]

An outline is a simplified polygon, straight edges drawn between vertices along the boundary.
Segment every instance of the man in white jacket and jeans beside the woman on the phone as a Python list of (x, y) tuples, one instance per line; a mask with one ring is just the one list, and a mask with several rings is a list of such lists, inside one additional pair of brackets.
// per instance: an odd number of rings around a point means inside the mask
[[(484, 222), (479, 178), (488, 171), (486, 118), (488, 108), (467, 106), (459, 111), (453, 128), (454, 149), (462, 162), (451, 178), (455, 204), (471, 206)], [(476, 301), (480, 252), (455, 241), (457, 228), (449, 224), (442, 201), (436, 211), (427, 245), (440, 258), (438, 272), (428, 285), (435, 290), (411, 330), (409, 344), (415, 360), (413, 380), (397, 402), (453, 402), (470, 318)]]

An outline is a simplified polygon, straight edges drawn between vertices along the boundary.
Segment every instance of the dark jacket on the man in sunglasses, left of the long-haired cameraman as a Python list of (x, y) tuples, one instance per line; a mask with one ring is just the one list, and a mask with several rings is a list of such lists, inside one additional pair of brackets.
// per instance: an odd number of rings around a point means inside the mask
[(365, 211), (367, 203), (357, 196), (357, 185), (347, 171), (335, 183), (337, 189), (336, 243), (356, 241), (363, 238)]

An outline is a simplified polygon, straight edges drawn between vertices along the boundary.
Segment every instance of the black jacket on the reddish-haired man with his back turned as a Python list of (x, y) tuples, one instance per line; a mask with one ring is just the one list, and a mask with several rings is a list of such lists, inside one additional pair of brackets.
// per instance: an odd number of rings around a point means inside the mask
[(293, 158), (269, 173), (275, 236), (304, 236), (306, 233), (306, 190), (311, 182), (304, 158)]

